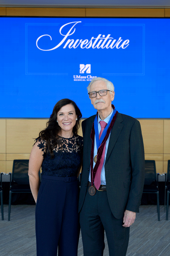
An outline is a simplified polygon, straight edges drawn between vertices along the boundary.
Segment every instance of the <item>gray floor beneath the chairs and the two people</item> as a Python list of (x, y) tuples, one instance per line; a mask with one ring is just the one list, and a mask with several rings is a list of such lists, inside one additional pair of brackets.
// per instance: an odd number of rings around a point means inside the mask
[[(36, 256), (35, 205), (12, 205), (11, 221), (7, 221), (7, 211), (8, 205), (4, 205), (4, 221), (0, 220), (0, 256)], [(106, 239), (105, 244), (104, 256), (109, 256)], [(78, 256), (83, 256), (81, 234)], [(131, 227), (126, 256), (170, 256), (170, 213), (169, 220), (165, 221), (163, 205), (160, 222), (156, 205), (140, 206)]]

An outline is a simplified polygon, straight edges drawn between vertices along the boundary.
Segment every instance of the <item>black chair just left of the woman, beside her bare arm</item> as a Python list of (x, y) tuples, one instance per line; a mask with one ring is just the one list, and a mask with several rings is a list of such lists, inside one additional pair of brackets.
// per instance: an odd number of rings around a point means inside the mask
[(29, 176), (28, 176), (29, 160), (14, 160), (12, 177), (10, 174), (10, 193), (9, 193), (9, 207), (8, 207), (8, 221), (10, 221), (11, 214), (11, 197), (12, 193), (31, 193)]

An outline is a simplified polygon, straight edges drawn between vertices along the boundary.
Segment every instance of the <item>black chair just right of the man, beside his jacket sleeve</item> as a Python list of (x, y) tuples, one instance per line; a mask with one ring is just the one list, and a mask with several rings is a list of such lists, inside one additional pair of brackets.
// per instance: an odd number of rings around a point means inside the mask
[(158, 176), (159, 173), (157, 173), (156, 179), (155, 160), (145, 160), (145, 183), (143, 187), (143, 193), (156, 193), (158, 221), (160, 221)]

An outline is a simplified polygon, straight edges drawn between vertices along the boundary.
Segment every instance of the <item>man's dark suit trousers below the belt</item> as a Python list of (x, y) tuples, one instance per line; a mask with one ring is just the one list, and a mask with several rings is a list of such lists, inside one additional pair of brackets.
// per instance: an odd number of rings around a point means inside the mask
[[(130, 228), (123, 227), (123, 219), (116, 219), (109, 207), (107, 192), (87, 193), (80, 212), (84, 256), (102, 256), (105, 247), (104, 230), (109, 256), (125, 256)], [(89, 251), (90, 250), (90, 251)]]

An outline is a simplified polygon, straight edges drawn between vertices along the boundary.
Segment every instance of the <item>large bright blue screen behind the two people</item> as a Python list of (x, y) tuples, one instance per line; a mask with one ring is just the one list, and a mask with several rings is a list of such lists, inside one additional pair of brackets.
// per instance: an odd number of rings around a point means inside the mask
[(115, 86), (113, 104), (136, 118), (170, 118), (170, 19), (0, 17), (0, 117), (49, 118), (74, 100), (96, 114), (88, 83)]

